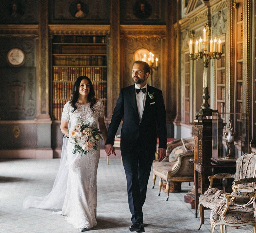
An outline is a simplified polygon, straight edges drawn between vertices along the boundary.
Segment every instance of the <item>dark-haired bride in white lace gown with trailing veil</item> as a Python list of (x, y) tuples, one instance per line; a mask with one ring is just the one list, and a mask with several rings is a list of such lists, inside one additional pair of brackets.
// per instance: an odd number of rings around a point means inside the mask
[[(60, 128), (68, 135), (68, 128), (84, 121), (92, 128), (98, 127), (106, 141), (107, 129), (104, 122), (103, 103), (95, 99), (90, 79), (80, 76), (75, 81), (71, 99), (63, 108)], [(97, 186), (96, 175), (100, 157), (98, 150), (90, 150), (86, 155), (72, 154), (73, 144), (63, 139), (61, 161), (53, 188), (46, 197), (27, 197), (23, 208), (59, 210), (56, 214), (66, 216), (66, 220), (80, 231), (96, 226)]]

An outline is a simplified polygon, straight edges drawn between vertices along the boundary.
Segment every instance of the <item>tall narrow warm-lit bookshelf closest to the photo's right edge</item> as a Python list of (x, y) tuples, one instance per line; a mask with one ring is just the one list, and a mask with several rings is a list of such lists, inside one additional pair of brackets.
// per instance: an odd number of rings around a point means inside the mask
[[(235, 113), (243, 112), (243, 1), (237, 1), (235, 12)], [(239, 117), (235, 119), (235, 131), (241, 135)]]

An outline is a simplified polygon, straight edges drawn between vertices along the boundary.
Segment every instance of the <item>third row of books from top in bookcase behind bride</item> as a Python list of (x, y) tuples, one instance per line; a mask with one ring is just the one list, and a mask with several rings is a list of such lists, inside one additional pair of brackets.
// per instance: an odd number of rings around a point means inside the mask
[(106, 66), (106, 56), (53, 56), (54, 66)]

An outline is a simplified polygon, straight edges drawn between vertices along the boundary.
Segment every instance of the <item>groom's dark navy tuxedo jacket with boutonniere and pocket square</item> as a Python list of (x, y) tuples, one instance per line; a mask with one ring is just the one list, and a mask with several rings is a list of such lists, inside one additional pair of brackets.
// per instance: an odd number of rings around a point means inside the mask
[(134, 85), (121, 89), (108, 127), (106, 144), (114, 145), (115, 134), (123, 118), (121, 152), (131, 151), (136, 142), (142, 149), (155, 152), (157, 128), (159, 148), (166, 149), (166, 112), (162, 91), (147, 86), (146, 102), (141, 121), (139, 120), (135, 95)]

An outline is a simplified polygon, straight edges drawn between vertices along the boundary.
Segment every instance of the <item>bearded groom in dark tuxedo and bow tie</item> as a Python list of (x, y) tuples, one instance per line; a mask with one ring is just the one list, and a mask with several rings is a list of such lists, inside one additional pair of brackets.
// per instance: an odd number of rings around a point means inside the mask
[(130, 231), (144, 232), (142, 206), (146, 199), (151, 165), (155, 158), (157, 129), (159, 159), (166, 156), (166, 112), (162, 91), (147, 85), (150, 67), (135, 61), (132, 68), (134, 85), (121, 89), (108, 127), (105, 151), (115, 154), (114, 140), (123, 118), (121, 154), (127, 181)]

